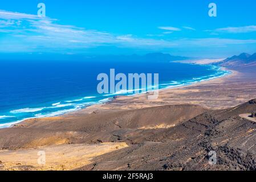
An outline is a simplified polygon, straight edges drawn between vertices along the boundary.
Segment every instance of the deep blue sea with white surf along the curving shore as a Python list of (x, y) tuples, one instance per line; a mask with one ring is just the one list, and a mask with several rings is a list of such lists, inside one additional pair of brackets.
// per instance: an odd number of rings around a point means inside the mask
[(104, 61), (1, 61), (0, 127), (26, 118), (50, 117), (106, 101), (99, 73), (159, 73), (159, 88), (188, 85), (227, 74), (218, 67), (180, 63)]

